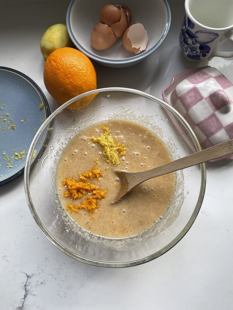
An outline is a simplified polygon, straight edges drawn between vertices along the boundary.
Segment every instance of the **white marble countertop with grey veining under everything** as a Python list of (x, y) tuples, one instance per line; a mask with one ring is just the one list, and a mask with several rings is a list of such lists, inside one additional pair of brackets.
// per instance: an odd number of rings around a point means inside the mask
[[(98, 88), (122, 86), (162, 98), (171, 78), (193, 64), (179, 50), (184, 0), (168, 1), (172, 22), (162, 46), (129, 68), (94, 64)], [(43, 84), (39, 42), (52, 24), (66, 22), (69, 0), (0, 1), (0, 65)], [(232, 49), (227, 43), (225, 48)], [(233, 60), (209, 63), (233, 82)], [(0, 150), (2, 144), (0, 141)], [(208, 163), (203, 204), (189, 232), (171, 250), (143, 265), (103, 268), (58, 250), (30, 214), (23, 177), (0, 187), (0, 309), (222, 309), (233, 303), (233, 161)]]

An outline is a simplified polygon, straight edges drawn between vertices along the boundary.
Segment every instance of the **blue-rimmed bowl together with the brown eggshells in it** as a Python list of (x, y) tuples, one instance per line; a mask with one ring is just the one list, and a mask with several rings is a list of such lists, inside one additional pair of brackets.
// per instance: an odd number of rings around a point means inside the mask
[(167, 0), (124, 4), (72, 0), (66, 24), (74, 45), (90, 59), (108, 67), (128, 67), (162, 44), (171, 12)]

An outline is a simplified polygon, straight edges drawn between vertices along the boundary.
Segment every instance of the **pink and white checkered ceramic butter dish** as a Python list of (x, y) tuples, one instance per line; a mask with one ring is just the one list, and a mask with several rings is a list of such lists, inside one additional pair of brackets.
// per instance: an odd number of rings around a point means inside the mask
[(163, 91), (165, 101), (171, 86), (168, 103), (188, 121), (202, 148), (233, 139), (233, 84), (221, 72), (202, 67), (179, 73)]

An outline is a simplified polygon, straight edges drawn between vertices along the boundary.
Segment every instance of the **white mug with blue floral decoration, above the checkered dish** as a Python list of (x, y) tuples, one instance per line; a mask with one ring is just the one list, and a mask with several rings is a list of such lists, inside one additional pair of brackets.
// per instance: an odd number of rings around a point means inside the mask
[(218, 51), (219, 43), (233, 41), (233, 0), (185, 0), (180, 29), (180, 49), (191, 61), (232, 57), (233, 51)]

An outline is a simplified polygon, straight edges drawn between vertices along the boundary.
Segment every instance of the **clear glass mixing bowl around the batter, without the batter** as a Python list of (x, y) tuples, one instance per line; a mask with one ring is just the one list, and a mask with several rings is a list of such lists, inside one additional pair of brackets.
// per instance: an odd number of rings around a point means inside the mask
[[(85, 96), (94, 93), (97, 95), (88, 106), (79, 110), (67, 108), (75, 100), (85, 100)], [(200, 210), (206, 171), (201, 164), (176, 172), (171, 205), (150, 229), (126, 238), (106, 238), (86, 231), (71, 219), (59, 200), (57, 164), (75, 135), (90, 125), (112, 119), (147, 127), (166, 144), (173, 160), (193, 153), (190, 144), (196, 151), (201, 150), (189, 124), (164, 101), (133, 89), (98, 89), (69, 100), (44, 121), (26, 158), (25, 194), (39, 228), (62, 252), (92, 265), (127, 267), (159, 257), (184, 237)]]

